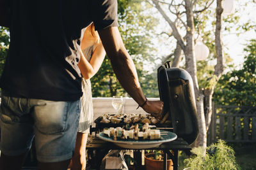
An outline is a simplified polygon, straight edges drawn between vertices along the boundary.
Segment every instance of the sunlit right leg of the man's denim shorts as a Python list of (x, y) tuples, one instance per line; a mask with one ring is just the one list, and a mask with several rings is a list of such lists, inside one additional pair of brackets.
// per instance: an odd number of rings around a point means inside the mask
[(40, 101), (40, 104), (33, 105), (37, 159), (40, 162), (71, 159), (76, 143), (80, 101)]

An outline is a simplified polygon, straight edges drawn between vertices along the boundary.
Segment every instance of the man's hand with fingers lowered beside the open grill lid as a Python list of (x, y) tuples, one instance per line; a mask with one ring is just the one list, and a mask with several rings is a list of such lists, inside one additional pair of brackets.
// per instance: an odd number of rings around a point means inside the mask
[(147, 101), (145, 106), (143, 106), (143, 110), (150, 113), (153, 117), (161, 118), (163, 114), (163, 101)]

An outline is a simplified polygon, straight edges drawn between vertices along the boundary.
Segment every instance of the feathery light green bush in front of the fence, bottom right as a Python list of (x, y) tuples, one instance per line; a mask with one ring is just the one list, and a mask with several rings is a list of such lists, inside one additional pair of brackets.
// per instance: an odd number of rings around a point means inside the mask
[(193, 148), (191, 152), (194, 155), (184, 160), (185, 167), (190, 167), (191, 170), (240, 169), (236, 163), (234, 150), (221, 139), (208, 146), (206, 153), (202, 147)]

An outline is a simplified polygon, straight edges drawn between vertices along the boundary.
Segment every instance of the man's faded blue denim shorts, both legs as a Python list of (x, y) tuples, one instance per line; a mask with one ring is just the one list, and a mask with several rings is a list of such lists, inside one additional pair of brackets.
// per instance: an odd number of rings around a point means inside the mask
[(31, 148), (35, 137), (38, 161), (71, 159), (80, 110), (80, 100), (46, 101), (2, 95), (1, 152), (9, 156), (25, 153)]

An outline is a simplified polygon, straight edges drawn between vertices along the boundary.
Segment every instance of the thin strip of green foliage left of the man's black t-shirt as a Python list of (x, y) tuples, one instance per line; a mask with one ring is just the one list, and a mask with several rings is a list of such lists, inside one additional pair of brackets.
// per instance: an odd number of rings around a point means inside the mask
[(4, 62), (9, 48), (9, 29), (0, 26), (0, 75), (3, 72)]

